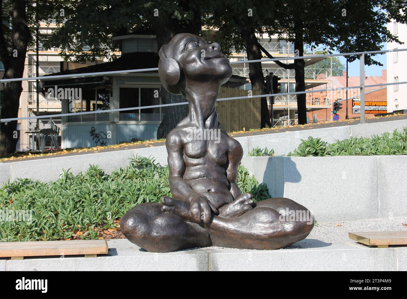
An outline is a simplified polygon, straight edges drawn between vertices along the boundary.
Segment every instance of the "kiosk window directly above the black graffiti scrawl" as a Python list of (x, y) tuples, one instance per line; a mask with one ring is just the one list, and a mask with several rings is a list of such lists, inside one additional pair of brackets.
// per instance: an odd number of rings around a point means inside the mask
[[(68, 113), (110, 109), (110, 96), (105, 88), (82, 89), (79, 99), (68, 99)], [(68, 116), (68, 122), (109, 121), (109, 113)]]

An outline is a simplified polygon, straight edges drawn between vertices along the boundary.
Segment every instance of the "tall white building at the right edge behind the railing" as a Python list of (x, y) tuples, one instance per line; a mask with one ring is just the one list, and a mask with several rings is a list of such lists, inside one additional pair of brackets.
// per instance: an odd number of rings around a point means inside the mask
[[(399, 24), (395, 20), (387, 24), (387, 29), (393, 35), (398, 36), (404, 44), (396, 42), (387, 42), (387, 50), (406, 48), (407, 44), (407, 24)], [(387, 82), (405, 82), (407, 81), (406, 73), (407, 52), (389, 52), (387, 53)], [(387, 87), (387, 112), (407, 109), (407, 85), (390, 85)]]

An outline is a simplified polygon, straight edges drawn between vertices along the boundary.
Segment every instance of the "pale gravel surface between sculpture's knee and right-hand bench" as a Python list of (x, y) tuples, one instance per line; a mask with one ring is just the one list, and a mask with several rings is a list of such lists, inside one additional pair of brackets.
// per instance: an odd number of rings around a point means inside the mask
[[(348, 238), (351, 231), (407, 231), (406, 217), (317, 222), (307, 238), (326, 243), (355, 242)], [(340, 225), (340, 226), (339, 226)], [(356, 242), (355, 242), (356, 243)]]

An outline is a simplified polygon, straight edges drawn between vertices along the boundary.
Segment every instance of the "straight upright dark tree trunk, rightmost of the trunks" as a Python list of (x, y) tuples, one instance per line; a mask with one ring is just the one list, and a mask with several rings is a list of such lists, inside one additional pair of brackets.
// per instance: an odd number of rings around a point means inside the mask
[[(295, 31), (294, 51), (296, 56), (304, 56), (304, 42), (302, 25)], [(298, 55), (297, 55), (298, 54)], [(305, 91), (305, 62), (304, 59), (294, 60), (295, 91)], [(306, 94), (297, 94), (298, 124), (306, 124)]]

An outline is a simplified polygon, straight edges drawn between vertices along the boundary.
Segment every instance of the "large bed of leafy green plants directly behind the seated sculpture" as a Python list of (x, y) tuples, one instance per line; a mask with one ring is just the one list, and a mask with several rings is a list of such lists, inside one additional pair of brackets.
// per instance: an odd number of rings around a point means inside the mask
[[(271, 197), (267, 186), (243, 166), (237, 184), (256, 200)], [(0, 241), (61, 240), (74, 231), (83, 232), (84, 239), (97, 238), (96, 226), (112, 228), (134, 205), (160, 202), (164, 195), (171, 196), (168, 167), (144, 157), (135, 157), (111, 175), (90, 166), (78, 175), (64, 171), (49, 183), (16, 179), (0, 189), (0, 209), (33, 211), (32, 223), (0, 221)]]

